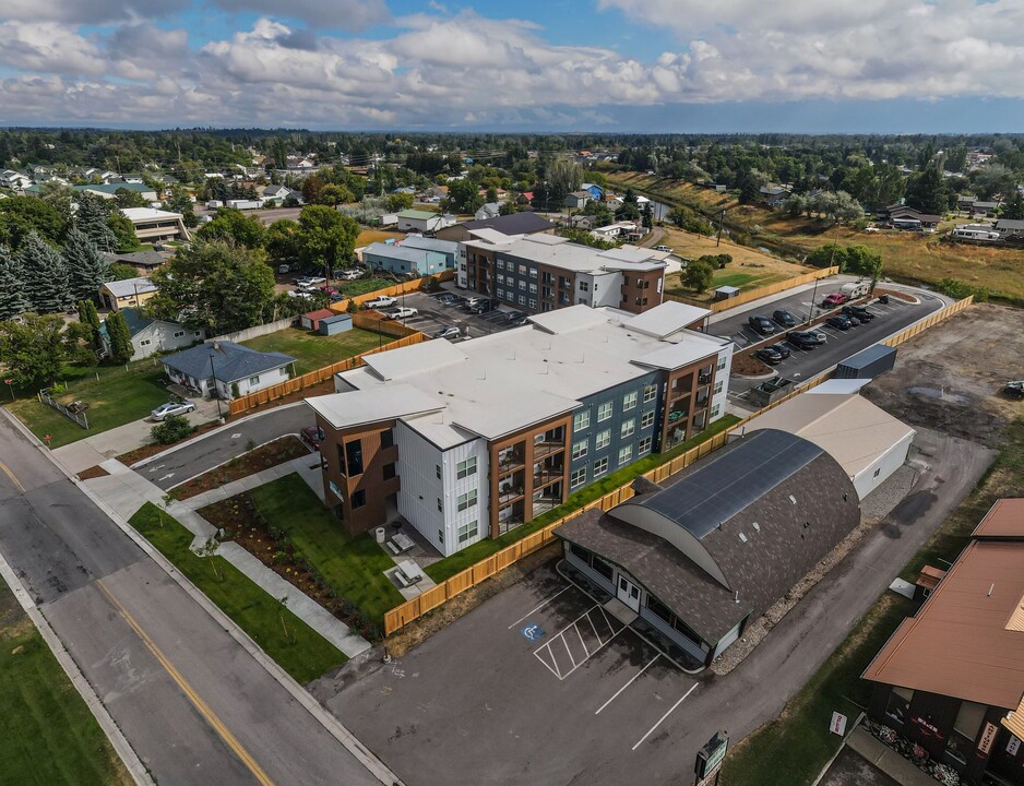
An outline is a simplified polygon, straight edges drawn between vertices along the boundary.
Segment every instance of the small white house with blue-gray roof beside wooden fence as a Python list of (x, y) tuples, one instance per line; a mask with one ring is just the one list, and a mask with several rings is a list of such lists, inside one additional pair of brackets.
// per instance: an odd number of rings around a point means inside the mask
[(241, 344), (212, 341), (160, 358), (167, 376), (202, 396), (231, 400), (290, 378), (295, 358), (261, 353)]

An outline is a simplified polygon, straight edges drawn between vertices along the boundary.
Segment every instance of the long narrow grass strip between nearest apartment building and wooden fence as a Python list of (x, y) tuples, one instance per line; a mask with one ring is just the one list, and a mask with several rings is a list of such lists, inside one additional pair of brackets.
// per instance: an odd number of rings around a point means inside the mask
[(551, 522), (558, 521), (562, 516), (569, 515), (573, 511), (583, 508), (585, 504), (604, 497), (606, 493), (617, 489), (619, 486), (623, 486), (630, 483), (636, 476), (643, 475), (645, 472), (650, 472), (654, 467), (660, 466), (662, 464), (671, 461), (680, 453), (686, 453), (688, 450), (695, 448), (701, 442), (710, 440), (716, 433), (730, 429), (738, 421), (739, 418), (735, 415), (724, 415), (699, 434), (692, 437), (686, 442), (676, 445), (670, 451), (666, 451), (665, 453), (656, 453), (654, 455), (646, 456), (645, 458), (641, 458), (640, 461), (633, 462), (627, 467), (622, 467), (621, 469), (611, 473), (611, 475), (602, 478), (597, 483), (593, 483), (590, 486), (584, 486), (575, 493), (570, 495), (569, 499), (562, 502), (562, 504), (560, 504), (558, 508), (549, 510), (547, 513), (537, 516), (533, 521), (527, 522), (522, 526), (517, 526), (515, 529), (507, 532), (501, 537), (478, 540), (472, 546), (464, 548), (462, 551), (456, 551), (451, 557), (445, 557), (442, 560), (438, 560), (433, 564), (425, 568), (424, 572), (436, 582), (441, 583), (445, 579), (464, 571), (469, 565), (479, 562), (483, 559), (487, 559), (492, 553), (500, 551), (507, 546), (511, 546), (516, 540), (521, 540), (527, 535), (532, 535), (538, 529), (543, 529)]

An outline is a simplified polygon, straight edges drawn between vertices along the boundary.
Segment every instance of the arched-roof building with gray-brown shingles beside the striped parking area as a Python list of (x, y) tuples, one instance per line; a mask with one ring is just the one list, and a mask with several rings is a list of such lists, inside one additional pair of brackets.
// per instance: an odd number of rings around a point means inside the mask
[[(765, 429), (555, 535), (563, 568), (684, 667), (710, 665), (860, 522), (843, 467)], [(615, 606), (615, 604), (611, 604)]]

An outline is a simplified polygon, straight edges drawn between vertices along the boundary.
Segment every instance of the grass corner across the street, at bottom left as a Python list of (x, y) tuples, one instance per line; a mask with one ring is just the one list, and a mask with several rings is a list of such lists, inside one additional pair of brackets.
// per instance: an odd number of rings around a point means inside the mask
[(0, 707), (0, 783), (132, 783), (82, 696), (2, 581)]

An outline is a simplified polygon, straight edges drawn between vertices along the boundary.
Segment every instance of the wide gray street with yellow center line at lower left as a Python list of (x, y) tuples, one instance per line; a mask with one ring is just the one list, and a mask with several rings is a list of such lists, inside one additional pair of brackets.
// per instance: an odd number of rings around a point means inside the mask
[(0, 551), (160, 784), (376, 784), (4, 417)]

